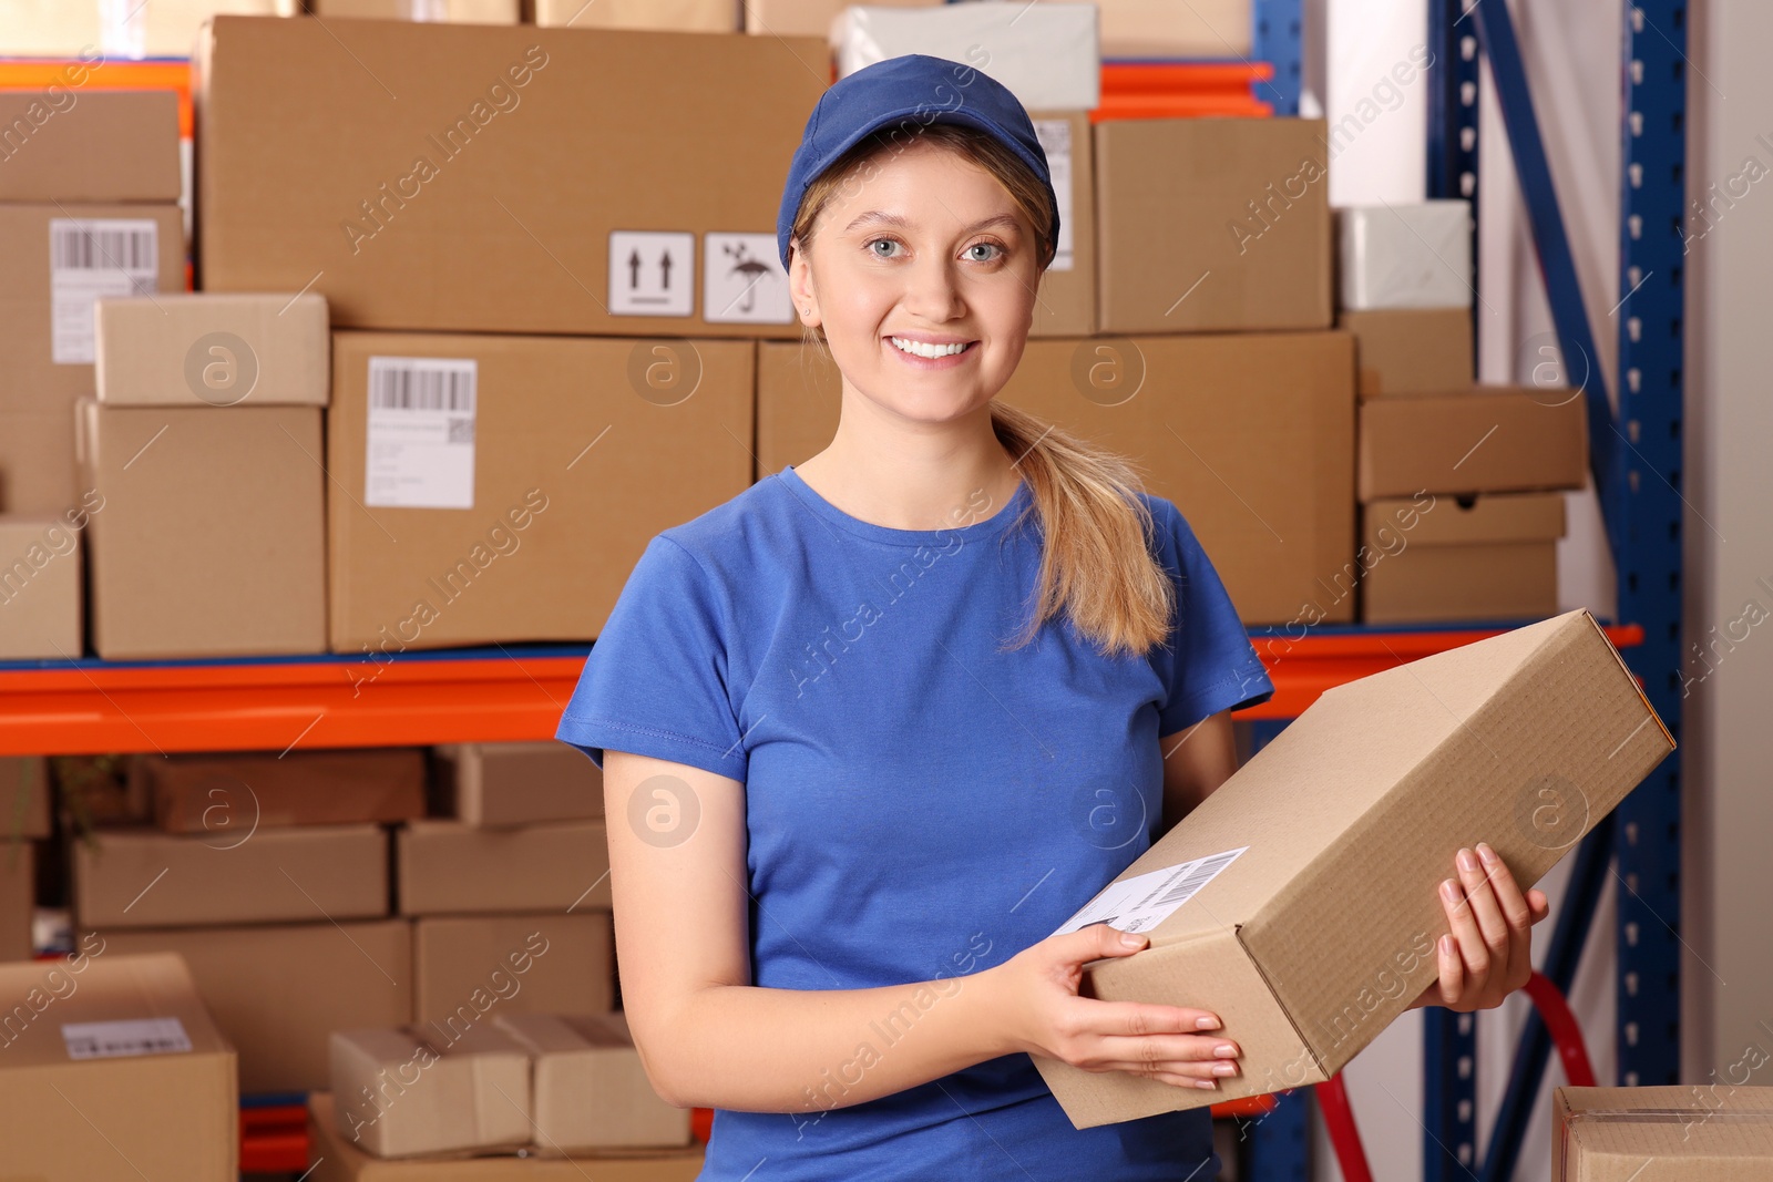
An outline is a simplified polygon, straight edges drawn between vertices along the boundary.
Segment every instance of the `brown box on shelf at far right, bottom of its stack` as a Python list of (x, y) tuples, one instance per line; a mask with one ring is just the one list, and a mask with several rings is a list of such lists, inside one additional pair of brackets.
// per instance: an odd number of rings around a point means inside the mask
[(1557, 611), (1562, 493), (1498, 493), (1472, 500), (1424, 496), (1362, 505), (1371, 565), (1360, 618), (1539, 618)]

